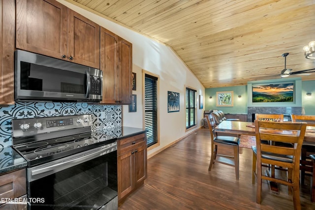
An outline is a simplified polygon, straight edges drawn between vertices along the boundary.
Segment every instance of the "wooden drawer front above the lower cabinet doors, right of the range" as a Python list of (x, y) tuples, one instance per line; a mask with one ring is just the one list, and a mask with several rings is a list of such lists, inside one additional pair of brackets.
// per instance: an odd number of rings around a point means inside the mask
[(139, 134), (126, 139), (121, 139), (117, 144), (117, 155), (123, 154), (129, 150), (134, 150), (146, 144), (145, 134)]

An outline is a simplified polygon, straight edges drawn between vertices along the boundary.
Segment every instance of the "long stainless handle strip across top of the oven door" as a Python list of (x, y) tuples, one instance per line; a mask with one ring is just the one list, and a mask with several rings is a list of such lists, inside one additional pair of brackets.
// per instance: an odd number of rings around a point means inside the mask
[[(102, 156), (106, 153), (109, 153), (111, 151), (117, 150), (116, 146), (115, 147), (110, 147), (110, 148), (102, 148), (98, 150), (94, 150), (93, 152), (85, 153), (85, 154), (80, 154), (78, 156), (75, 156), (71, 159), (64, 160), (64, 161), (58, 161), (57, 163), (48, 163), (48, 165), (45, 167), (44, 165), (41, 166), (35, 166), (33, 168), (29, 169), (30, 172), (30, 177), (29, 181), (37, 180), (42, 177), (46, 177), (48, 175), (54, 174), (56, 172), (62, 171), (64, 169), (70, 168), (72, 166), (78, 165), (80, 163), (84, 163), (86, 161), (92, 160), (98, 156)], [(52, 165), (51, 165), (52, 164)]]

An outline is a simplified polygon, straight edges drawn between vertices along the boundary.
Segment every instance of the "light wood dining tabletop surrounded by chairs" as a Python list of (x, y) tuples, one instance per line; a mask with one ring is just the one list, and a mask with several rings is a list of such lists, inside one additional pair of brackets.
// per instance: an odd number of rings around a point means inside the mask
[[(215, 127), (214, 130), (217, 133), (255, 136), (254, 122), (223, 120), (219, 125)], [(315, 143), (315, 127), (306, 127), (304, 142)]]

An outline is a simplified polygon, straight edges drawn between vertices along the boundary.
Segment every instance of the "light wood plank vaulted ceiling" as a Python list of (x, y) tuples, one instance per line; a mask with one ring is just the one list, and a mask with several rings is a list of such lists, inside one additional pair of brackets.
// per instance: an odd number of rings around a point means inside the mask
[(170, 46), (205, 88), (281, 78), (283, 53), (292, 72), (315, 68), (303, 51), (315, 40), (315, 0), (67, 1)]

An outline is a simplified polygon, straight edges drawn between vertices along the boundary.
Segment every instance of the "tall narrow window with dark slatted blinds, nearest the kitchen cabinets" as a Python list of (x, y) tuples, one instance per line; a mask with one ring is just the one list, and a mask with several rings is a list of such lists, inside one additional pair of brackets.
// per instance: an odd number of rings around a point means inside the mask
[(147, 129), (147, 146), (158, 143), (158, 78), (145, 74), (144, 120)]

